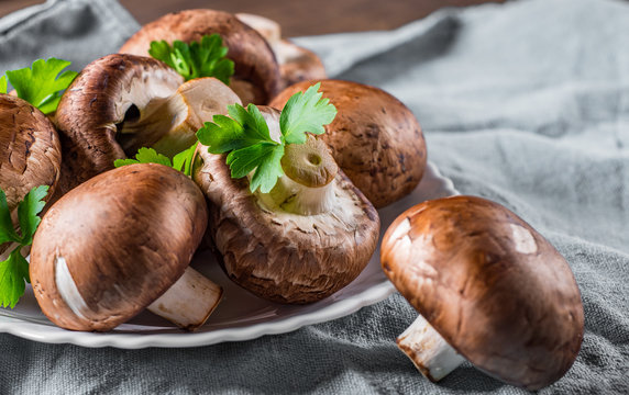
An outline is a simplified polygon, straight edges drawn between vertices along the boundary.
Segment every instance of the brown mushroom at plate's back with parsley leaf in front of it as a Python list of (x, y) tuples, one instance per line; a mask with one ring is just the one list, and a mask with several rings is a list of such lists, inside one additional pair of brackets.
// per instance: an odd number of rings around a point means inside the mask
[(136, 32), (120, 48), (121, 54), (148, 55), (153, 41), (185, 43), (219, 34), (234, 61), (231, 88), (244, 103), (266, 104), (279, 90), (279, 67), (266, 41), (234, 15), (214, 10), (186, 10), (166, 14)]

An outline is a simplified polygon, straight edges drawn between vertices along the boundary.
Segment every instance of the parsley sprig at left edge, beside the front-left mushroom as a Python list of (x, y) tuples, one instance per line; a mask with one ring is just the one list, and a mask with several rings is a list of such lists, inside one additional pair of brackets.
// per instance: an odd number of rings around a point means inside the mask
[(7, 203), (7, 194), (0, 189), (0, 245), (16, 242), (9, 258), (0, 262), (0, 306), (15, 307), (25, 290), (29, 276), (29, 262), (20, 251), (33, 242), (33, 235), (42, 221), (38, 214), (44, 208), (44, 198), (48, 193), (48, 185), (33, 188), (24, 200), (18, 205), (18, 219), (20, 233), (13, 227), (11, 212)]

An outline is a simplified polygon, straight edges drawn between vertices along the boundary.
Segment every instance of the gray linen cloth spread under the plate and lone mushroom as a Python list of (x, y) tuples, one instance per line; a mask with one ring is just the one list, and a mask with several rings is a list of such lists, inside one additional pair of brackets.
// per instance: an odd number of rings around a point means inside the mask
[[(0, 70), (53, 55), (82, 66), (135, 29), (113, 0), (51, 1), (0, 20)], [(391, 32), (297, 42), (332, 77), (398, 97), (461, 192), (510, 207), (565, 256), (586, 332), (573, 368), (540, 393), (629, 394), (629, 3), (448, 9)], [(0, 335), (0, 394), (526, 393), (468, 363), (428, 382), (394, 341), (415, 315), (395, 294), (290, 334), (190, 349)]]

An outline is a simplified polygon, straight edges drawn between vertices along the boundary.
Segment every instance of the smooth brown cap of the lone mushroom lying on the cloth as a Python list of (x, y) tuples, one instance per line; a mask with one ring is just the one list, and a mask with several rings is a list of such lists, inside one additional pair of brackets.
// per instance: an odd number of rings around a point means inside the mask
[(478, 369), (537, 390), (570, 369), (583, 305), (565, 259), (504, 206), (474, 196), (418, 204), (387, 229), (383, 270)]

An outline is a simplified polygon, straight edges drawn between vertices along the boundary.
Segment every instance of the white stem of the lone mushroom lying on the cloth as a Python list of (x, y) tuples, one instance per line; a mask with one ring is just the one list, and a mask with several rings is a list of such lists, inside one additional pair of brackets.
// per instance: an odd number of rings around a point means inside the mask
[(397, 346), (432, 382), (440, 381), (465, 362), (421, 315), (397, 338)]

